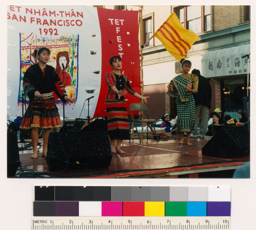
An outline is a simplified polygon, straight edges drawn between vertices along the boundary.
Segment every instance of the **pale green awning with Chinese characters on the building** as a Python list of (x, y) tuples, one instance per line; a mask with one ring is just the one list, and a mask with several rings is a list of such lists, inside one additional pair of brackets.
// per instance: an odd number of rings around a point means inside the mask
[[(206, 52), (202, 57), (202, 75), (206, 78), (247, 74), (250, 44)], [(249, 70), (250, 73), (250, 70)]]

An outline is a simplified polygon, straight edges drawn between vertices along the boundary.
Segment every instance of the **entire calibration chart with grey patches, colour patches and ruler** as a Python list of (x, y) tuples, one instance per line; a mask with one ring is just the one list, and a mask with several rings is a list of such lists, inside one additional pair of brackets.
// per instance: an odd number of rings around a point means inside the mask
[(230, 187), (35, 186), (31, 229), (230, 229)]

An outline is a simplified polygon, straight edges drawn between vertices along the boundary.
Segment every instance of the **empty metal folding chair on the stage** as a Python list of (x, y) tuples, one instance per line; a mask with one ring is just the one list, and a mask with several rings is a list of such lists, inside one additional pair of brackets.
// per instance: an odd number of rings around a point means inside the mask
[[(131, 142), (131, 134), (132, 134), (131, 133), (131, 125), (132, 124), (134, 124), (134, 126), (136, 128), (136, 131), (137, 131), (137, 134), (139, 136), (140, 142), (141, 142), (141, 136), (143, 136), (145, 134), (146, 134), (146, 139), (148, 139), (148, 133), (149, 133), (148, 128), (151, 130), (151, 133), (156, 135), (157, 140), (160, 141), (159, 137), (157, 135), (155, 126), (154, 126), (154, 123), (156, 122), (156, 120), (151, 118), (150, 111), (148, 111), (146, 105), (144, 105), (142, 103), (132, 103), (132, 104), (130, 104), (129, 109), (130, 109), (130, 112), (131, 112), (131, 117), (130, 117), (130, 142)], [(145, 112), (147, 112), (147, 114), (148, 114), (147, 119), (145, 117), (143, 119), (134, 119), (132, 111), (145, 111)], [(141, 130), (141, 132), (139, 132), (136, 123), (141, 123), (141, 126), (142, 126), (142, 123), (146, 123), (147, 127), (145, 128), (145, 131), (142, 132), (142, 130)], [(151, 125), (152, 125), (152, 127), (151, 127)]]

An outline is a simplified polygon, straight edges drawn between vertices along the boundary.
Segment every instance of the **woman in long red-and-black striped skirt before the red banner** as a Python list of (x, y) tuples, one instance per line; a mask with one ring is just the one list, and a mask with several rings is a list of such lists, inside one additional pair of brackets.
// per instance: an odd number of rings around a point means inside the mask
[[(144, 100), (147, 104), (147, 98), (136, 93), (127, 77), (121, 74), (122, 59), (119, 56), (110, 58), (112, 72), (106, 73), (106, 83), (109, 85), (109, 93), (106, 97), (106, 114), (108, 117), (108, 131), (110, 136), (110, 145), (112, 153), (123, 153), (120, 146), (122, 140), (129, 140), (129, 121), (127, 116), (127, 108), (125, 104), (126, 89), (131, 95)], [(115, 140), (117, 144), (115, 147)]]

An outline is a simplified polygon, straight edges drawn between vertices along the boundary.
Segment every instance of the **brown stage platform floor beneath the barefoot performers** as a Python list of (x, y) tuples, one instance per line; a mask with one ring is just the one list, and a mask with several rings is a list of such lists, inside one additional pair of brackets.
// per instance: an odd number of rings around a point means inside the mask
[[(32, 149), (19, 151), (22, 170), (16, 177), (56, 178), (230, 178), (233, 170), (249, 160), (249, 155), (236, 158), (217, 158), (202, 155), (202, 147), (211, 139), (191, 139), (193, 146), (180, 145), (179, 135), (171, 140), (153, 139), (123, 141), (126, 154), (113, 154), (109, 168), (75, 168), (50, 171), (46, 158), (30, 158)], [(186, 140), (185, 140), (186, 141)]]

